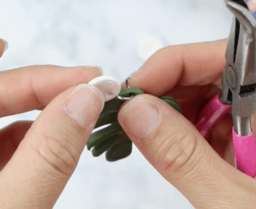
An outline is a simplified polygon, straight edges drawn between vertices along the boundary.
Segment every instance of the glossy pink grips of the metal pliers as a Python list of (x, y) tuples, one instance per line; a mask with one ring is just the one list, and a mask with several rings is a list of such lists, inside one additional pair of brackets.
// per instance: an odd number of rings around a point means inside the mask
[[(220, 102), (219, 94), (212, 97), (212, 100), (202, 109), (195, 127), (207, 141), (214, 125), (217, 125), (230, 109), (230, 105)], [(256, 143), (253, 131), (249, 136), (238, 136), (233, 127), (232, 133), (237, 170), (249, 177), (256, 177)]]

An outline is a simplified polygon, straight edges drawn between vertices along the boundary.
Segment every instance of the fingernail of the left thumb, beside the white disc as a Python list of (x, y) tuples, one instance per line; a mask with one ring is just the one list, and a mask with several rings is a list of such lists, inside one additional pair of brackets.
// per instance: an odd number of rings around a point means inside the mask
[(79, 125), (90, 128), (96, 124), (96, 119), (104, 107), (104, 96), (95, 86), (90, 84), (79, 84), (69, 96), (63, 111), (75, 119)]

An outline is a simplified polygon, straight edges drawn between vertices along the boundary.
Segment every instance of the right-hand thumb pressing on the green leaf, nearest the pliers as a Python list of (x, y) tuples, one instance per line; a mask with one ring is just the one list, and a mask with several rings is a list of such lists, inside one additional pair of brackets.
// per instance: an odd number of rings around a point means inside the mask
[(149, 163), (196, 208), (251, 208), (243, 206), (254, 202), (254, 192), (244, 199), (252, 179), (222, 160), (166, 102), (135, 96), (120, 108), (119, 123)]

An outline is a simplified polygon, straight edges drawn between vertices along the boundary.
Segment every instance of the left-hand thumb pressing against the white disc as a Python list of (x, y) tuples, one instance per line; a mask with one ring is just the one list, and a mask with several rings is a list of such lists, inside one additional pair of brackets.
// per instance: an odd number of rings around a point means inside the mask
[(1, 200), (8, 200), (0, 202), (0, 208), (54, 206), (78, 164), (103, 101), (96, 87), (80, 84), (44, 108), (0, 174)]

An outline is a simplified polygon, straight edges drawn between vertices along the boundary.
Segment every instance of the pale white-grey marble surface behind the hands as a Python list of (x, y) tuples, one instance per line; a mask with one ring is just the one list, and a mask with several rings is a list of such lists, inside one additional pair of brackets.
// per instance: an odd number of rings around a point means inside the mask
[[(124, 80), (155, 50), (226, 38), (231, 14), (223, 0), (8, 0), (0, 1), (0, 37), (9, 49), (1, 70), (38, 64), (101, 66)], [(34, 120), (40, 111), (2, 118)], [(193, 208), (133, 146), (109, 163), (87, 149), (55, 209)]]

